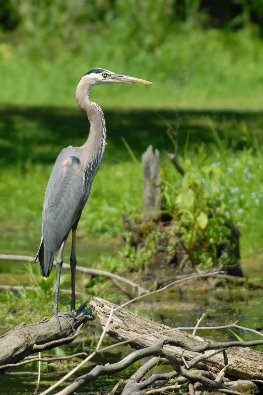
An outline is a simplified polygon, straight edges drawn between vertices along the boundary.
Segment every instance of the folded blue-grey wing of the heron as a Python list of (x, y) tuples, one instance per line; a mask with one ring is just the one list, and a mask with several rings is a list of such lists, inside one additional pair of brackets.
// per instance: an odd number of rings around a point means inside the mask
[(67, 239), (83, 207), (84, 179), (80, 158), (70, 155), (62, 163), (57, 160), (47, 184), (43, 206), (42, 238), (38, 251), (43, 276), (49, 275), (54, 255)]

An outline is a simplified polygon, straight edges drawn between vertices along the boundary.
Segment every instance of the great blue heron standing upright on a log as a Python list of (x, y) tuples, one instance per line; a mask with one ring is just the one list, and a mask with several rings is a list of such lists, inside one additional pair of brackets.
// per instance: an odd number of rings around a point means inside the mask
[(56, 259), (56, 290), (53, 309), (59, 326), (59, 317), (69, 321), (67, 318), (69, 314), (58, 312), (59, 279), (65, 241), (72, 230), (70, 315), (75, 316), (76, 230), (106, 147), (103, 111), (98, 103), (89, 99), (89, 92), (94, 85), (119, 83), (151, 84), (149, 81), (115, 74), (100, 68), (92, 69), (82, 77), (76, 89), (76, 100), (80, 108), (87, 112), (90, 121), (89, 136), (81, 147), (70, 146), (62, 149), (55, 161), (46, 188), (42, 236), (35, 259), (39, 259), (42, 276), (48, 277), (54, 256), (60, 248)]

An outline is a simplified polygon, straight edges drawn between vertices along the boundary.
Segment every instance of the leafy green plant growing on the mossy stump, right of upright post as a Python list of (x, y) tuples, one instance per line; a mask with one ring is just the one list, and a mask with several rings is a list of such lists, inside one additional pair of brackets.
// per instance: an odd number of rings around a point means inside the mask
[(233, 218), (218, 188), (225, 183), (224, 172), (204, 164), (203, 156), (201, 149), (197, 166), (185, 160), (182, 179), (163, 181), (162, 202), (192, 263), (210, 269), (227, 258), (228, 264), (235, 263), (227, 254)]

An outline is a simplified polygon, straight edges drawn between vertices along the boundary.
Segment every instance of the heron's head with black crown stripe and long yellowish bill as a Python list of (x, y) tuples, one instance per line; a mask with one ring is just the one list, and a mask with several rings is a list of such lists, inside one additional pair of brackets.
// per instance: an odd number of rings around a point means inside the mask
[(123, 76), (121, 74), (113, 73), (105, 69), (92, 69), (88, 71), (82, 78), (88, 79), (91, 86), (102, 84), (151, 84), (149, 81), (141, 80), (140, 78)]

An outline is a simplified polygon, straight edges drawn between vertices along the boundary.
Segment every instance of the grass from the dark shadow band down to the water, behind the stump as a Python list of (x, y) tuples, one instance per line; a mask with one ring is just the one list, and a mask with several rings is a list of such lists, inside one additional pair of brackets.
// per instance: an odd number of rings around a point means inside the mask
[[(156, 115), (151, 111), (117, 113), (107, 110), (105, 117), (108, 144), (79, 224), (81, 238), (89, 241), (116, 238), (123, 230), (122, 211), (140, 210), (142, 168), (139, 155), (152, 143), (162, 151), (163, 201), (168, 211), (173, 211), (173, 206), (179, 203), (178, 195), (191, 189), (194, 178), (199, 178), (195, 180), (196, 185), (202, 188), (205, 184), (200, 180), (205, 178), (216, 199), (224, 204), (229, 220), (234, 218), (241, 231), (247, 232), (241, 239), (242, 256), (261, 248), (258, 218), (262, 212), (263, 193), (262, 119), (259, 115), (225, 112), (215, 117), (209, 112), (181, 111), (176, 119), (172, 111), (160, 111)], [(63, 146), (80, 145), (85, 141), (88, 122), (78, 110), (34, 111), (8, 107), (3, 108), (1, 120), (0, 221), (4, 236), (1, 249), (21, 253), (26, 249), (28, 254), (34, 255), (40, 239), (44, 191), (53, 162)], [(165, 152), (173, 151), (165, 122), (174, 130), (179, 123), (176, 141), (180, 161), (187, 172), (184, 179), (165, 159)], [(189, 142), (184, 152), (187, 131), (190, 132)], [(137, 162), (127, 152), (122, 136), (138, 158)], [(197, 147), (202, 140), (206, 146), (198, 153)], [(201, 211), (207, 216), (208, 196), (202, 189), (199, 199), (204, 210)], [(199, 215), (196, 212), (196, 218)], [(214, 231), (216, 234), (207, 235), (209, 240), (220, 239), (220, 233)]]

